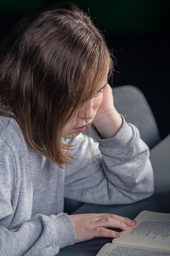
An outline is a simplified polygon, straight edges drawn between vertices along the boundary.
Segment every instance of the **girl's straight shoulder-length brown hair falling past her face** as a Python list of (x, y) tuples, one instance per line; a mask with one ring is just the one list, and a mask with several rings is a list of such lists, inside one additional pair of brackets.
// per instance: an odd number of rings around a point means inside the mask
[(101, 32), (73, 3), (22, 18), (0, 46), (0, 115), (55, 164), (71, 161), (62, 128), (113, 66)]

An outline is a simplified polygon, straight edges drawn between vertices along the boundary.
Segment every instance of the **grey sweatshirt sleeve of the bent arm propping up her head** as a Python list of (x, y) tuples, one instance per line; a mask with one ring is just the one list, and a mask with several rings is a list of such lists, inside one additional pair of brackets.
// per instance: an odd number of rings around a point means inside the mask
[(152, 195), (148, 146), (138, 129), (122, 118), (123, 125), (112, 138), (101, 139), (93, 128), (97, 141), (91, 142), (94, 156), (89, 153), (85, 137), (82, 138), (74, 152), (77, 161), (66, 169), (66, 197), (96, 204), (128, 204)]

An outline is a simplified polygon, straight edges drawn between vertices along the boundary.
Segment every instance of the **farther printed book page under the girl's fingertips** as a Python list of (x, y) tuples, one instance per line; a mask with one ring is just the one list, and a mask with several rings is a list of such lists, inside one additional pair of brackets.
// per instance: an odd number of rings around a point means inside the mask
[(121, 231), (112, 243), (170, 252), (170, 213), (142, 211), (135, 220), (137, 225)]

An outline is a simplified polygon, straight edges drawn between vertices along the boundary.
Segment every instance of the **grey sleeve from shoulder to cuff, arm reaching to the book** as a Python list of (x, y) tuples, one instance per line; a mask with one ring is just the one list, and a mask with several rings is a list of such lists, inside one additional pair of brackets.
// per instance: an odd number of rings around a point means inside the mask
[[(24, 193), (21, 182), (16, 182), (21, 173), (16, 172), (20, 166), (16, 168), (15, 160), (8, 145), (0, 140), (0, 255), (55, 256), (62, 247), (75, 243), (73, 223), (66, 213), (32, 218), (30, 213), (29, 218), (25, 212), (22, 221), (14, 220), (16, 215), (23, 215), (18, 208)], [(27, 201), (24, 205), (29, 207)]]

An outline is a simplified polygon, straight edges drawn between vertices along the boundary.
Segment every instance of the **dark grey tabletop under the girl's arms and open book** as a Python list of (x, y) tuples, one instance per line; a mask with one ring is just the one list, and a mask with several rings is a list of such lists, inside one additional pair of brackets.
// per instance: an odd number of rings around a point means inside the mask
[[(156, 192), (145, 200), (134, 204), (121, 205), (98, 205), (84, 204), (74, 214), (79, 213), (115, 213), (134, 219), (141, 211), (158, 211), (170, 213), (170, 135), (167, 136), (150, 152), (150, 160), (156, 175)], [(165, 189), (159, 186), (159, 179), (164, 175), (169, 175), (165, 179), (161, 178), (161, 185), (165, 182)], [(165, 177), (165, 176), (164, 176)], [(89, 241), (77, 243), (60, 249), (57, 256), (96, 256), (99, 249), (106, 243), (111, 243), (112, 238), (94, 238)]]

